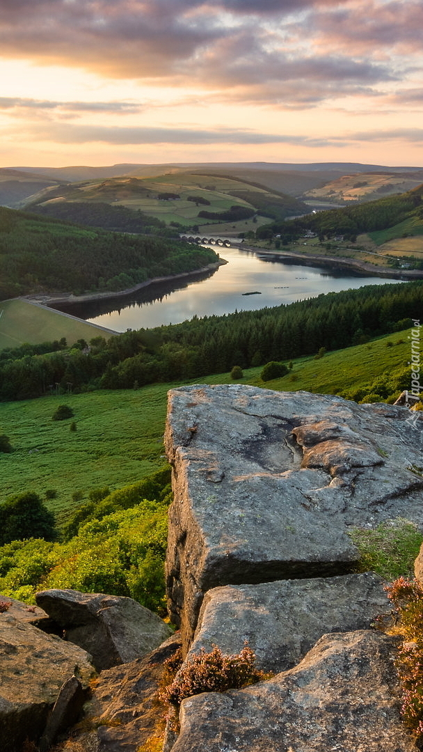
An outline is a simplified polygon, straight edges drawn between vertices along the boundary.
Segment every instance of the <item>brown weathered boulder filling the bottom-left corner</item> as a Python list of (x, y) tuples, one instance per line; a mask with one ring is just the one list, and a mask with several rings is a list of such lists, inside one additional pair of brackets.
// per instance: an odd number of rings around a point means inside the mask
[[(0, 613), (0, 729), (2, 749), (8, 752), (21, 752), (26, 738), (38, 741), (63, 684), (71, 678), (81, 690), (77, 704), (72, 701), (73, 719), (95, 673), (85, 650), (32, 626), (29, 614), (38, 614), (29, 608), (14, 601)], [(62, 720), (66, 723), (66, 713)]]

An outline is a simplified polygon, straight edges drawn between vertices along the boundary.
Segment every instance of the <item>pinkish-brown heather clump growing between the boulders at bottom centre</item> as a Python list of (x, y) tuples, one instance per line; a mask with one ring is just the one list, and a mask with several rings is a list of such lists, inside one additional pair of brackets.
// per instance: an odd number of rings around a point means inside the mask
[(162, 690), (160, 699), (179, 708), (186, 697), (201, 692), (225, 692), (264, 681), (270, 674), (255, 668), (255, 654), (245, 644), (237, 655), (225, 656), (216, 645), (210, 653), (201, 653), (186, 662), (171, 684)]

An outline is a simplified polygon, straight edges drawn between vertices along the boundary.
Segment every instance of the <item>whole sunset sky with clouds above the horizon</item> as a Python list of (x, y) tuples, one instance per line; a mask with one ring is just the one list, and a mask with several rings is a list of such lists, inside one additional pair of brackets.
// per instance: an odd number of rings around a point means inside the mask
[(421, 0), (1, 0), (0, 166), (423, 166)]

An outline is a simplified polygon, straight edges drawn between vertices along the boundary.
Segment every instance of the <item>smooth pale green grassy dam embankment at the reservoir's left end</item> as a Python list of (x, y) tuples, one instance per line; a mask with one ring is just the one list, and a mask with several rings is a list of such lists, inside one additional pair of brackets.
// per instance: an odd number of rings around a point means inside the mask
[(0, 302), (0, 350), (19, 347), (24, 342), (41, 344), (62, 337), (71, 345), (78, 339), (89, 341), (98, 335), (108, 339), (113, 332), (27, 300)]

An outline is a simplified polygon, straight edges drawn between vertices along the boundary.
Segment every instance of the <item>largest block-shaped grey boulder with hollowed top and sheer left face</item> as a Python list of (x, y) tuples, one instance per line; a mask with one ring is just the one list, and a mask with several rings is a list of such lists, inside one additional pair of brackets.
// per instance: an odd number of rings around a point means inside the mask
[(358, 556), (350, 526), (397, 516), (421, 526), (408, 417), (394, 405), (239, 384), (171, 390), (166, 575), (184, 650), (207, 590), (343, 575)]

